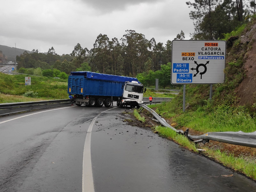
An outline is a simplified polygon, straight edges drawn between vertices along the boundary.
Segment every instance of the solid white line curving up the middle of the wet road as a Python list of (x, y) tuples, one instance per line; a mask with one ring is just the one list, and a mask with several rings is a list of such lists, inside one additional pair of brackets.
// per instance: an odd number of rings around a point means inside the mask
[[(108, 109), (106, 111), (109, 111), (112, 109), (114, 108)], [(101, 113), (104, 113), (106, 111), (103, 111)], [(93, 184), (93, 177), (92, 177), (92, 160), (91, 160), (91, 135), (92, 135), (92, 127), (94, 125), (94, 122), (101, 113), (99, 113), (98, 115), (96, 115), (96, 117), (92, 119), (92, 122), (88, 127), (88, 131), (85, 137), (84, 155), (83, 155), (82, 192), (84, 192), (84, 190), (86, 190), (86, 192), (94, 192), (94, 184)]]

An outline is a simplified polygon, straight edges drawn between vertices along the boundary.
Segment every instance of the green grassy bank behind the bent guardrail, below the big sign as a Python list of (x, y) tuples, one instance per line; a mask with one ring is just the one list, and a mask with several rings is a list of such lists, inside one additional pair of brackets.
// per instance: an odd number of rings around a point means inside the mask
[(230, 106), (225, 103), (212, 106), (210, 101), (206, 101), (204, 106), (195, 106), (183, 112), (182, 102), (179, 98), (174, 98), (172, 102), (148, 107), (154, 108), (165, 119), (172, 118), (177, 123), (177, 128), (187, 127), (205, 133), (256, 131), (256, 119), (244, 106)]

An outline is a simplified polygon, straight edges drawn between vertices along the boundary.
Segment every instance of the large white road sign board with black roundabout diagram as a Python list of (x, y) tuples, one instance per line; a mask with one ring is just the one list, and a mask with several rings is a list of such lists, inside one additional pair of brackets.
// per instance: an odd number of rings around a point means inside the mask
[(172, 41), (172, 84), (224, 83), (225, 63), (226, 41)]

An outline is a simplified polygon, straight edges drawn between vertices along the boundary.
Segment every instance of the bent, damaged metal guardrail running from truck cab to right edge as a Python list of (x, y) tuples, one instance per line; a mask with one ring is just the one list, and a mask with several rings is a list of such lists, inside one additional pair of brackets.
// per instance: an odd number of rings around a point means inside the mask
[[(188, 129), (184, 132), (181, 130), (176, 130), (174, 127), (166, 123), (166, 121), (160, 117), (154, 110), (148, 108), (144, 104), (139, 104), (139, 106), (143, 107), (144, 109), (148, 110), (163, 126), (168, 127), (177, 133), (181, 133), (188, 137), (191, 141), (195, 143), (202, 142), (203, 144), (209, 142), (209, 140), (212, 141), (218, 141), (222, 143), (229, 143), (234, 145), (240, 145), (240, 146), (247, 146), (247, 147), (253, 147), (256, 148), (256, 131), (251, 133), (245, 133), (243, 131), (238, 132), (232, 132), (232, 131), (226, 131), (226, 132), (207, 132), (203, 135), (195, 136), (195, 135), (189, 135)], [(193, 139), (199, 139), (197, 141), (194, 141)]]

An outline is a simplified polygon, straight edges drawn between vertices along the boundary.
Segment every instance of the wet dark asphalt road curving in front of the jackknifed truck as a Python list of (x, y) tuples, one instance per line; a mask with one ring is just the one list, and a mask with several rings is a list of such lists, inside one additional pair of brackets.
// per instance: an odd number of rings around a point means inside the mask
[(0, 117), (0, 191), (256, 191), (254, 181), (128, 125), (124, 110)]

